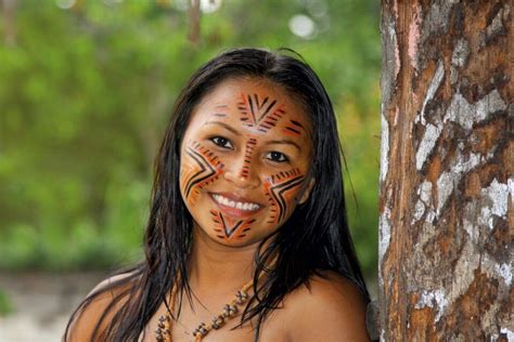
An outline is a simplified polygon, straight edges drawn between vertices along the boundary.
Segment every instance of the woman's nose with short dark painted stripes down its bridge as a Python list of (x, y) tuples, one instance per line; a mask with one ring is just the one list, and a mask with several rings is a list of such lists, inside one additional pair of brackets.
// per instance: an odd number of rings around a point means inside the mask
[(255, 188), (260, 185), (260, 179), (253, 161), (252, 150), (234, 158), (231, 165), (226, 165), (224, 177), (241, 188)]

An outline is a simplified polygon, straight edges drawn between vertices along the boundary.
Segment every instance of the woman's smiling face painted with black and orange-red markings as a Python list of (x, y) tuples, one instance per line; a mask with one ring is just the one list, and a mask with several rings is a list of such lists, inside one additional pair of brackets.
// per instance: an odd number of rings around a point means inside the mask
[(180, 190), (195, 228), (226, 246), (275, 232), (307, 200), (312, 143), (303, 106), (262, 79), (229, 79), (195, 107)]

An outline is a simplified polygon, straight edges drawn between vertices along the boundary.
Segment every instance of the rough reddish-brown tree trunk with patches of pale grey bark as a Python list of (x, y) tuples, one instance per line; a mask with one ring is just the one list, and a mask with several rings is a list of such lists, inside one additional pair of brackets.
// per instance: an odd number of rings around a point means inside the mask
[(512, 1), (383, 1), (381, 339), (514, 341)]

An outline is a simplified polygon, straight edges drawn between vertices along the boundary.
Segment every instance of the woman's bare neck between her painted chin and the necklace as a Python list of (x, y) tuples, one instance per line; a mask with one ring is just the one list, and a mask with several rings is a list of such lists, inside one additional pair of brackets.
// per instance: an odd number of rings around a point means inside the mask
[(252, 280), (258, 244), (228, 247), (214, 241), (201, 228), (193, 228), (189, 281), (196, 291), (232, 293)]

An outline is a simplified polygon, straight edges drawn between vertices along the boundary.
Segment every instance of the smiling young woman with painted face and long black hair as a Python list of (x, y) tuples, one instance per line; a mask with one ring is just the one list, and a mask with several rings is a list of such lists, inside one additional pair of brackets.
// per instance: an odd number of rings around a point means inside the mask
[(368, 340), (339, 153), (305, 63), (239, 49), (202, 66), (156, 159), (145, 260), (101, 282), (65, 340)]

